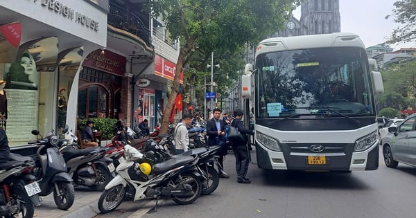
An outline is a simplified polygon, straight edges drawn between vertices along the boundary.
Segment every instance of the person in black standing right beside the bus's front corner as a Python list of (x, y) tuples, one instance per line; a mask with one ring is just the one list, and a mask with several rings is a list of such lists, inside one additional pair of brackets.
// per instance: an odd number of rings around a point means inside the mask
[[(234, 111), (234, 120), (232, 120), (230, 126), (239, 129), (241, 134), (252, 135), (254, 134), (254, 130), (244, 128), (244, 123), (243, 121), (241, 121), (241, 118), (243, 118), (243, 114), (244, 113), (243, 111), (241, 111), (241, 109), (236, 109)], [(236, 157), (237, 181), (239, 183), (251, 183), (250, 179), (246, 177), (248, 171), (247, 138), (244, 142), (232, 141), (232, 149), (234, 151), (234, 156)]]

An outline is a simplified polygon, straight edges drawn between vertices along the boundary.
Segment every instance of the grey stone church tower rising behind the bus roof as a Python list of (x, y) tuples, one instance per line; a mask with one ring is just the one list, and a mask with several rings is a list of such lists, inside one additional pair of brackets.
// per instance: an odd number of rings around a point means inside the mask
[(339, 0), (306, 0), (301, 5), (301, 35), (338, 33), (340, 24)]

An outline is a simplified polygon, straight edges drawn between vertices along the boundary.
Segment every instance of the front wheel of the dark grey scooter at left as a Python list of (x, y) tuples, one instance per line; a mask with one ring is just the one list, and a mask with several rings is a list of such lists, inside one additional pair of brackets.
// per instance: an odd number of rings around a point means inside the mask
[(56, 188), (53, 188), (53, 200), (55, 201), (56, 206), (61, 210), (68, 210), (73, 204), (75, 199), (75, 192), (73, 190), (73, 185), (71, 182), (57, 181), (59, 196)]

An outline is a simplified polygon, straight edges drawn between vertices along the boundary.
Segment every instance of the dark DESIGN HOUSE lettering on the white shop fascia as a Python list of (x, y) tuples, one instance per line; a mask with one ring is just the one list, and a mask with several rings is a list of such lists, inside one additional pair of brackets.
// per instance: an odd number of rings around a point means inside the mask
[[(37, 2), (37, 1), (33, 1)], [(92, 19), (91, 17), (87, 17), (81, 12), (75, 11), (73, 8), (61, 3), (60, 1), (55, 0), (42, 0), (41, 5), (49, 10), (57, 13), (60, 16), (67, 17), (75, 21), (76, 23), (86, 26), (87, 28), (94, 30), (95, 32), (99, 29), (98, 21)]]

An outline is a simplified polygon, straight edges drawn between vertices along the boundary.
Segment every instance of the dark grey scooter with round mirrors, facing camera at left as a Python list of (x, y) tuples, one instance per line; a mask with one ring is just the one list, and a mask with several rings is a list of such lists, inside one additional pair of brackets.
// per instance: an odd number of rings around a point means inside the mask
[[(38, 130), (33, 130), (32, 134), (40, 135)], [(63, 140), (50, 131), (45, 138), (41, 136), (36, 143), (40, 147), (36, 152), (36, 165), (33, 174), (40, 185), (40, 190), (42, 190), (39, 195), (47, 196), (53, 192), (56, 206), (61, 210), (68, 210), (75, 199), (75, 192), (71, 176), (67, 173), (67, 165), (58, 150)]]

